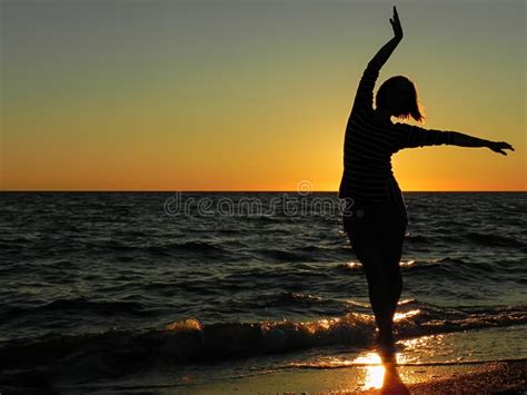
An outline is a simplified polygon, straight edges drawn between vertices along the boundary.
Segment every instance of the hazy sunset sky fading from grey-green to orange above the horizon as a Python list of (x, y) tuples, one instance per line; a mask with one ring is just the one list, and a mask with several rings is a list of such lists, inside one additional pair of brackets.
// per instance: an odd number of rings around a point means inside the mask
[[(392, 2), (0, 0), (2, 190), (337, 190)], [(526, 3), (398, 1), (381, 70), (430, 129), (510, 142), (392, 158), (404, 190), (527, 190)], [(304, 184), (302, 184), (304, 182)]]

